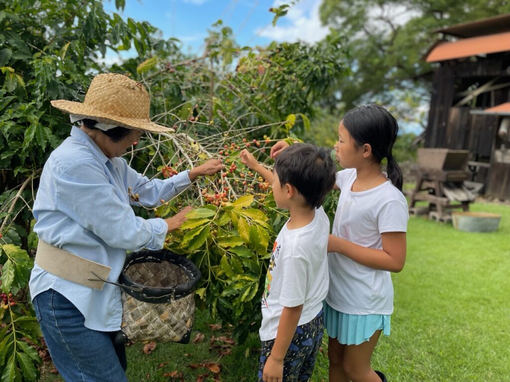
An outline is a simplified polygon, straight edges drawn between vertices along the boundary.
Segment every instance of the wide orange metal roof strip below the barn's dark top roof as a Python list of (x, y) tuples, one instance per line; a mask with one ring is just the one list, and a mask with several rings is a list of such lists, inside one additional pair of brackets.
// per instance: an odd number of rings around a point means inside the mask
[(510, 51), (510, 32), (439, 42), (427, 54), (425, 61), (446, 61), (504, 51)]

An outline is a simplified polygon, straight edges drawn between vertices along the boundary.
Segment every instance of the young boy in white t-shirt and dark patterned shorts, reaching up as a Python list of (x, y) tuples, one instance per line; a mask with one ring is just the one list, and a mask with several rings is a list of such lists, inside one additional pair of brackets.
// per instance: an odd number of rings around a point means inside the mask
[(258, 380), (306, 381), (324, 332), (329, 220), (321, 204), (335, 184), (336, 167), (330, 150), (308, 144), (283, 150), (272, 173), (247, 150), (241, 161), (272, 183), (276, 206), (290, 214), (274, 242), (262, 296)]

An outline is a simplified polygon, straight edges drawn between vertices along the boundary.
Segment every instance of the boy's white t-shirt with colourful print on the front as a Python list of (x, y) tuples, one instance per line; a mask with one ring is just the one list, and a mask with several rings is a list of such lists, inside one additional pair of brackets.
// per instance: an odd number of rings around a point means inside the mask
[(322, 309), (327, 293), (329, 219), (322, 207), (310, 224), (290, 230), (287, 223), (273, 245), (262, 295), (262, 341), (276, 338), (284, 307), (303, 304), (298, 325), (310, 322)]

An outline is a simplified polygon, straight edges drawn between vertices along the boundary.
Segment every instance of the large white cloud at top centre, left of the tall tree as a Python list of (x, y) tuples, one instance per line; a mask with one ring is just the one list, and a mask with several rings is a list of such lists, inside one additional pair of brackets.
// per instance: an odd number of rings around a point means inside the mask
[[(273, 7), (282, 4), (285, 4), (285, 2), (276, 0)], [(319, 18), (320, 4), (321, 2), (318, 0), (301, 0), (289, 8), (287, 15), (278, 19), (276, 26), (269, 24), (264, 28), (259, 28), (256, 34), (278, 42), (299, 40), (315, 43), (322, 40), (329, 30), (321, 24)]]

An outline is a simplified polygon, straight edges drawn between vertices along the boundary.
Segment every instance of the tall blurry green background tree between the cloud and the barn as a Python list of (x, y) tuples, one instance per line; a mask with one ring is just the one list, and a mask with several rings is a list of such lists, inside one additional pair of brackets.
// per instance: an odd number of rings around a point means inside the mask
[(327, 103), (349, 110), (379, 101), (394, 106), (399, 119), (423, 125), (431, 71), (423, 56), (438, 38), (433, 30), (507, 12), (503, 0), (323, 0), (322, 22), (346, 36), (350, 68), (329, 89)]

